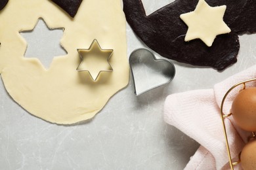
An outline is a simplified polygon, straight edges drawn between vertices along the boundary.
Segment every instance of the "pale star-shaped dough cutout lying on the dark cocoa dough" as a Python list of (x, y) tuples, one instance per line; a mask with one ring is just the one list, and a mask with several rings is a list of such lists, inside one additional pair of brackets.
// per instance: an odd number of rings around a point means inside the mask
[(194, 11), (180, 16), (188, 25), (185, 41), (201, 39), (211, 46), (217, 35), (230, 33), (230, 28), (223, 21), (225, 10), (226, 5), (210, 7), (204, 0), (199, 0)]

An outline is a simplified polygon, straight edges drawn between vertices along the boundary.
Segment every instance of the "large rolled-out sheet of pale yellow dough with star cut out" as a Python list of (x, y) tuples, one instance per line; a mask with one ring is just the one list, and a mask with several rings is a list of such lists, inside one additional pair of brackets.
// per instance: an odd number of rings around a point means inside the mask
[[(26, 41), (19, 31), (33, 29), (43, 18), (49, 27), (64, 27), (60, 43), (66, 56), (53, 59), (47, 71), (37, 58), (24, 58)], [(0, 12), (0, 73), (7, 92), (31, 114), (57, 124), (74, 124), (100, 111), (129, 82), (125, 16), (119, 0), (83, 0), (74, 19), (49, 0), (9, 0)], [(112, 73), (93, 82), (76, 71), (77, 48), (97, 39), (114, 49)]]

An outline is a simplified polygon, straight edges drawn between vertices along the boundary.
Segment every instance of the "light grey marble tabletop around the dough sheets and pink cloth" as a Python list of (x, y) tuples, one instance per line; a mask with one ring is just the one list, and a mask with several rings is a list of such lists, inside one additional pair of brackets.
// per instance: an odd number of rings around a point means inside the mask
[[(144, 0), (147, 14), (171, 1)], [(146, 47), (127, 25), (127, 55)], [(74, 126), (35, 118), (0, 82), (0, 169), (183, 169), (198, 143), (163, 122), (171, 93), (213, 85), (255, 64), (256, 35), (240, 37), (238, 62), (223, 72), (175, 63), (174, 80), (139, 97), (132, 78), (97, 116)], [(121, 101), (121, 102), (120, 102)]]

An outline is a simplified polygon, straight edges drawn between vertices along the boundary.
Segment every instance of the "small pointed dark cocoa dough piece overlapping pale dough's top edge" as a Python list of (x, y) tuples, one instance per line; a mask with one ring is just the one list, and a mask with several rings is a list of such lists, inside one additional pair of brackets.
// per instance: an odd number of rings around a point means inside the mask
[(83, 0), (51, 0), (60, 8), (65, 10), (72, 18), (75, 17)]

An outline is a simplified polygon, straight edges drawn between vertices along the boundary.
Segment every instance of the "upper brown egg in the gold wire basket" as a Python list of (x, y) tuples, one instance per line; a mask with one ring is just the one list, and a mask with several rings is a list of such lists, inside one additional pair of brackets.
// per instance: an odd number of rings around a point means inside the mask
[(256, 131), (256, 88), (242, 90), (232, 103), (234, 120), (245, 131)]

